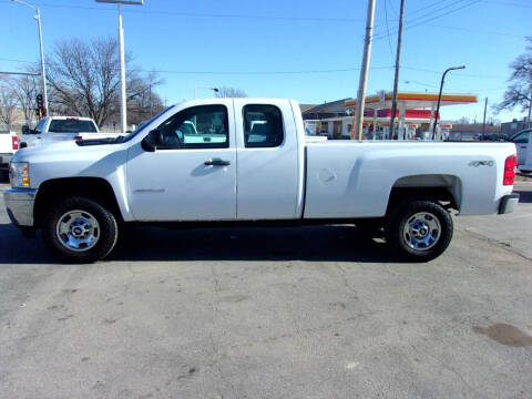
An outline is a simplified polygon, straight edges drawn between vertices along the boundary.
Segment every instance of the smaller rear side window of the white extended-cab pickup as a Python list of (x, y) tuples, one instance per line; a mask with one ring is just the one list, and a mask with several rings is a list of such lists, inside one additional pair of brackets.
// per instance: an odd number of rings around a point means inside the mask
[(245, 105), (243, 119), (246, 149), (276, 147), (283, 143), (283, 115), (277, 106)]

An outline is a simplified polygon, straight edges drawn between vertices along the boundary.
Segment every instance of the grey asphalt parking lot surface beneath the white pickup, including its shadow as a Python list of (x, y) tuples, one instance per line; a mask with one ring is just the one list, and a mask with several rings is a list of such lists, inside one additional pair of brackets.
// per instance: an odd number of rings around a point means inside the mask
[[(3, 191), (7, 185), (0, 185)], [(399, 263), (352, 226), (137, 228), (57, 263), (0, 200), (2, 398), (530, 398), (532, 185)]]

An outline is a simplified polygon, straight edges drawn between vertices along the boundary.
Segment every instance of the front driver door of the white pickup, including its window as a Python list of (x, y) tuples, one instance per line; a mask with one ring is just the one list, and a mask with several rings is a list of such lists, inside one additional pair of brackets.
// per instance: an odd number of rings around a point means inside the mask
[(153, 152), (127, 153), (127, 191), (137, 221), (236, 218), (233, 102), (181, 110), (156, 127)]

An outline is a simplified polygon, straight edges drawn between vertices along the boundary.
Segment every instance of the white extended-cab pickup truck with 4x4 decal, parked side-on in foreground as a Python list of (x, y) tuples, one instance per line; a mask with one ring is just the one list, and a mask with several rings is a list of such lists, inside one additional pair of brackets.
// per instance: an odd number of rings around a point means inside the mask
[(104, 258), (131, 222), (190, 226), (358, 224), (383, 227), (403, 257), (449, 245), (450, 209), (512, 212), (509, 143), (306, 142), (297, 102), (182, 102), (119, 139), (23, 149), (4, 200), (70, 262)]

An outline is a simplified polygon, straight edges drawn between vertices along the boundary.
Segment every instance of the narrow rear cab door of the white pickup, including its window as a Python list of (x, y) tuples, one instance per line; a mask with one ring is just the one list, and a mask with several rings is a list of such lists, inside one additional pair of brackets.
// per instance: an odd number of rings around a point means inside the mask
[(237, 218), (298, 217), (303, 185), (298, 172), (303, 168), (303, 154), (290, 102), (234, 101), (238, 165)]

